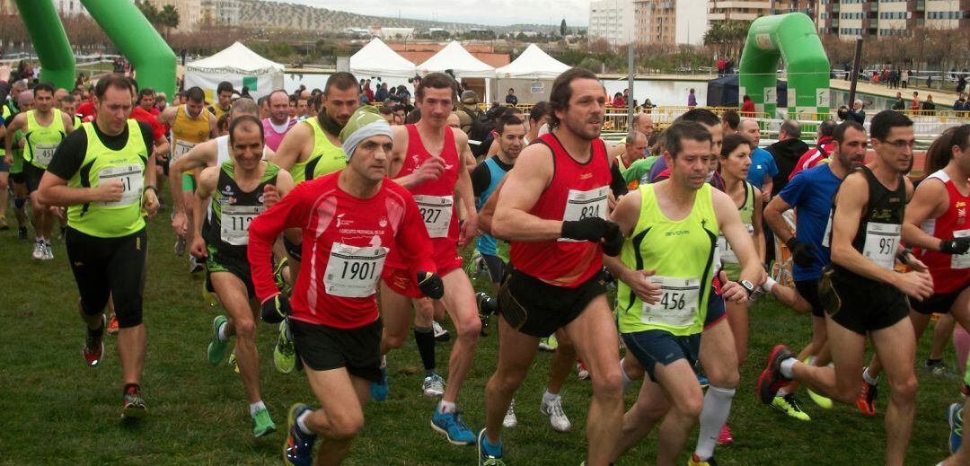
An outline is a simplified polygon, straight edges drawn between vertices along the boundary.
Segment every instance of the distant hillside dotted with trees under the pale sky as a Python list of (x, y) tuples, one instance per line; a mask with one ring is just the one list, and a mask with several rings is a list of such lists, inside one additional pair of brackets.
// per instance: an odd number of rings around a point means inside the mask
[(439, 27), (450, 32), (467, 31), (470, 28), (487, 28), (496, 33), (516, 32), (524, 29), (549, 32), (558, 31), (555, 27), (539, 24), (515, 24), (511, 26), (489, 26), (459, 22), (441, 22), (422, 19), (408, 19), (385, 16), (364, 16), (338, 12), (325, 8), (308, 7), (292, 3), (267, 2), (262, 0), (241, 0), (240, 21), (244, 27), (270, 27), (279, 29), (299, 29), (312, 31), (340, 32), (348, 27), (413, 27), (428, 29)]

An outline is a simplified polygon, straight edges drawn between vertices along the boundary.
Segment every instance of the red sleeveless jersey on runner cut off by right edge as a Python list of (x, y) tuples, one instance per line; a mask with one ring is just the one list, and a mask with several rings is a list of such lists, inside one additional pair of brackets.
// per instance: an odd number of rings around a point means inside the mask
[[(925, 220), (920, 225), (921, 230), (940, 239), (970, 235), (970, 225), (967, 224), (970, 196), (960, 194), (946, 171), (937, 171), (927, 176), (926, 180), (933, 178), (946, 186), (950, 204), (943, 215)], [(933, 293), (952, 293), (970, 284), (970, 253), (957, 256), (920, 248), (914, 248), (913, 253), (929, 267), (929, 274), (933, 276)]]

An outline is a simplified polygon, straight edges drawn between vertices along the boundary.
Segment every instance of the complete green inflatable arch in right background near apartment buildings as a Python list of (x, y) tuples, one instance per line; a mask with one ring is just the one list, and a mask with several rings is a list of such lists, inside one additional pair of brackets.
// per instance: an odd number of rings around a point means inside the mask
[(828, 57), (808, 16), (790, 13), (761, 16), (751, 24), (741, 54), (738, 94), (747, 95), (759, 112), (774, 116), (779, 60), (788, 72), (788, 114), (824, 119), (828, 114)]

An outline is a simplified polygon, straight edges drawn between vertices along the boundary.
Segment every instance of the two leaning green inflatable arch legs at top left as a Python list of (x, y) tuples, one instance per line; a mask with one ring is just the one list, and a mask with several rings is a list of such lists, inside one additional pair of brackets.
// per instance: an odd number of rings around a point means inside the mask
[[(131, 0), (81, 0), (81, 4), (131, 61), (139, 86), (175, 95), (176, 54)], [(16, 0), (16, 7), (41, 61), (41, 80), (73, 89), (74, 53), (53, 2)]]

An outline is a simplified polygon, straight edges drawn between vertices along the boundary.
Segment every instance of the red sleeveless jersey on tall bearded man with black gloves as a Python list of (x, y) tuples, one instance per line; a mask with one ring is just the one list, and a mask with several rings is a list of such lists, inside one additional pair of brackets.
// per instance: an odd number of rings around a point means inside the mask
[[(576, 162), (552, 133), (537, 141), (552, 151), (553, 175), (529, 213), (545, 220), (605, 219), (612, 176), (603, 141), (591, 142), (593, 154), (584, 164)], [(590, 241), (511, 241), (509, 256), (523, 273), (564, 288), (578, 287), (602, 268), (602, 250)]]

